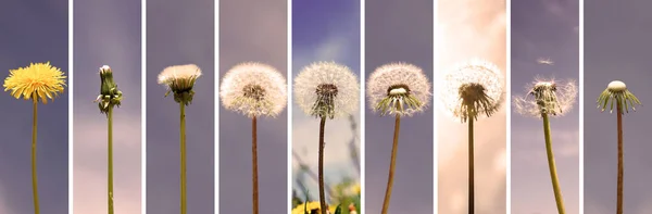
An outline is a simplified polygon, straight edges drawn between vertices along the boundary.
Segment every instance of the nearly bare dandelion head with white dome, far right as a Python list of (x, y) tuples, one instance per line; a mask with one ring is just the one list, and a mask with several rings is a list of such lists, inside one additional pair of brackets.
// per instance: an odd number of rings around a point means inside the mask
[(640, 105), (641, 101), (627, 89), (625, 83), (614, 80), (606, 86), (606, 89), (598, 98), (598, 108), (601, 111), (606, 110), (607, 104), (610, 105), (610, 113), (614, 111), (614, 105), (619, 108), (620, 113), (628, 113), (629, 108), (636, 111), (636, 105)]

